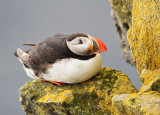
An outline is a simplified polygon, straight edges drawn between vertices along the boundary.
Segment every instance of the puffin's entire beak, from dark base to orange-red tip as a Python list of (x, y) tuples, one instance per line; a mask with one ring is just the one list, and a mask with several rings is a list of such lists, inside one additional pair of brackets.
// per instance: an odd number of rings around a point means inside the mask
[(93, 54), (107, 51), (106, 45), (101, 40), (91, 37), (90, 35), (88, 35), (88, 37), (92, 41), (90, 48), (93, 48)]

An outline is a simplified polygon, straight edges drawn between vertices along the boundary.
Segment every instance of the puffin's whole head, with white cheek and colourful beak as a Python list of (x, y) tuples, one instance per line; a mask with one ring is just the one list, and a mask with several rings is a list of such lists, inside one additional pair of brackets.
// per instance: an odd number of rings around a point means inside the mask
[(92, 55), (107, 51), (105, 44), (89, 34), (77, 33), (66, 38), (68, 48), (77, 55)]

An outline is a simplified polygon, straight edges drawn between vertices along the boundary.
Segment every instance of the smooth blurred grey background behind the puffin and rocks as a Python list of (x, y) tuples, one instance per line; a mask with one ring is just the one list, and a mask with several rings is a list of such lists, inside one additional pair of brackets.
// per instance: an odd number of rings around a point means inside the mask
[(13, 53), (23, 43), (39, 43), (56, 33), (85, 32), (101, 39), (108, 51), (102, 66), (127, 74), (139, 90), (135, 67), (121, 55), (108, 0), (0, 0), (0, 115), (24, 115), (19, 88), (31, 81)]

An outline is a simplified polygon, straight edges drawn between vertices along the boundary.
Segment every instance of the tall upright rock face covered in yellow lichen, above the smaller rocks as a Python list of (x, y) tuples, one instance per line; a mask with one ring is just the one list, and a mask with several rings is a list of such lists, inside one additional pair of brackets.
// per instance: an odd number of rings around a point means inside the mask
[(133, 59), (139, 74), (160, 69), (160, 0), (134, 0), (132, 28), (128, 31)]

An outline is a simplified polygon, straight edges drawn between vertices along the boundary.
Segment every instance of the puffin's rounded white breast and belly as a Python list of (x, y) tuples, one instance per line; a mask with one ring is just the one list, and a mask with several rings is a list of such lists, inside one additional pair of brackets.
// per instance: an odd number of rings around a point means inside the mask
[(48, 72), (42, 75), (42, 78), (64, 83), (79, 83), (97, 74), (100, 67), (100, 54), (97, 54), (89, 60), (78, 60), (74, 58), (62, 59), (53, 64)]

